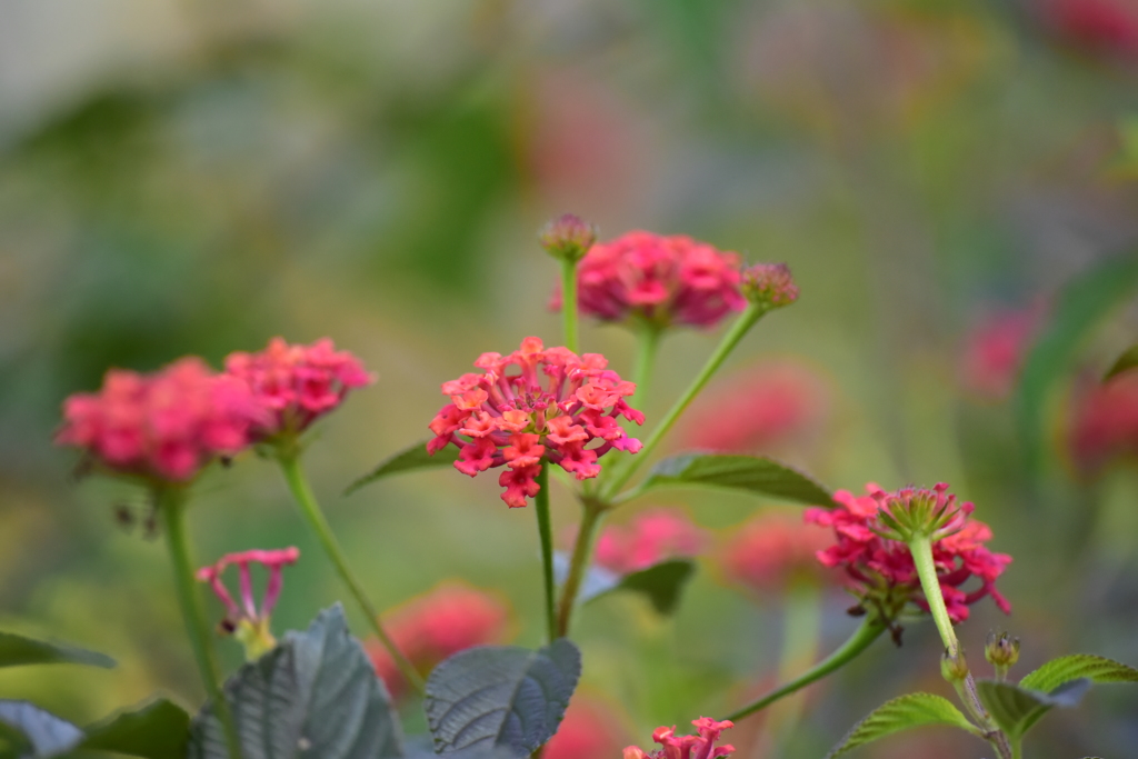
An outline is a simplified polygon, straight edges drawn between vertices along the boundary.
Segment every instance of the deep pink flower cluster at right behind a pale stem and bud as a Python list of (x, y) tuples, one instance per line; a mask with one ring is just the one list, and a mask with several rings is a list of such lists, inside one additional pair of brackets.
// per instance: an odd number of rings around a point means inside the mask
[[(1012, 556), (992, 553), (984, 543), (991, 539), (991, 529), (971, 518), (971, 503), (957, 504), (947, 485), (933, 490), (906, 488), (885, 493), (871, 482), (867, 495), (855, 496), (848, 490), (834, 494), (835, 509), (808, 509), (806, 521), (832, 527), (836, 543), (819, 551), (817, 556), (826, 567), (844, 570), (848, 587), (861, 607), (872, 608), (885, 619), (893, 620), (909, 602), (929, 610), (921, 591), (916, 566), (908, 546), (899, 541), (882, 537), (893, 531), (892, 523), (904, 521), (901, 510), (910, 503), (932, 503), (946, 506), (948, 523), (933, 535), (932, 553), (948, 614), (954, 622), (968, 618), (968, 604), (990, 595), (1004, 613), (1012, 605), (996, 589), (996, 579), (1004, 572)], [(962, 589), (972, 577), (980, 587)]]

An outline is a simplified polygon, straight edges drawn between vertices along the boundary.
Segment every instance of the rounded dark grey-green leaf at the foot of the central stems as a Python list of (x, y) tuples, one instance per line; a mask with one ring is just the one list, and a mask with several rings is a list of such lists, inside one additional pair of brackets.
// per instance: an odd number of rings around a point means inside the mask
[(423, 710), (435, 750), (504, 746), (528, 756), (553, 737), (580, 677), (566, 638), (530, 651), (479, 646), (454, 654), (427, 678)]

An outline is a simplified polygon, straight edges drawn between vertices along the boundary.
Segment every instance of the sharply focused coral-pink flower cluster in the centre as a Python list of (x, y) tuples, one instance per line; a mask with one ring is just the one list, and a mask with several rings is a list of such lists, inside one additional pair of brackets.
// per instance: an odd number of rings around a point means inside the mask
[[(644, 414), (625, 402), (636, 386), (607, 365), (601, 354), (546, 349), (536, 337), (527, 337), (506, 356), (484, 353), (475, 362), (483, 373), (443, 383), (451, 403), (429, 424), (436, 437), (427, 451), (434, 455), (452, 443), (459, 446), (454, 467), (470, 477), (506, 465), (498, 485), (511, 508), (525, 506), (526, 498), (537, 495), (543, 461), (579, 480), (596, 477), (596, 462), (609, 451), (641, 449), (618, 418), (644, 422)], [(594, 440), (600, 444), (586, 447)]]

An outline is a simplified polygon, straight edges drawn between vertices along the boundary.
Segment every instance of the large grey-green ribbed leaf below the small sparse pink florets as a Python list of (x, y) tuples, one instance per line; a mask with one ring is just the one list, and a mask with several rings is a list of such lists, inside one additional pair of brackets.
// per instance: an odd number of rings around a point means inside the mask
[[(344, 609), (322, 611), (304, 633), (241, 667), (225, 683), (246, 759), (394, 759), (403, 737), (382, 682)], [(190, 759), (226, 759), (207, 704), (190, 727)]]

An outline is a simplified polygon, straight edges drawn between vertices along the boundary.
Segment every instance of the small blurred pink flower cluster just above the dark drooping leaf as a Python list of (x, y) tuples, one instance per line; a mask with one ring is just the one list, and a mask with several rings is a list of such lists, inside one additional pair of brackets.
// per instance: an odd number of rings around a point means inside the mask
[(667, 559), (694, 556), (703, 548), (703, 530), (681, 511), (641, 512), (626, 527), (612, 526), (596, 541), (594, 561), (618, 575), (646, 569)]

